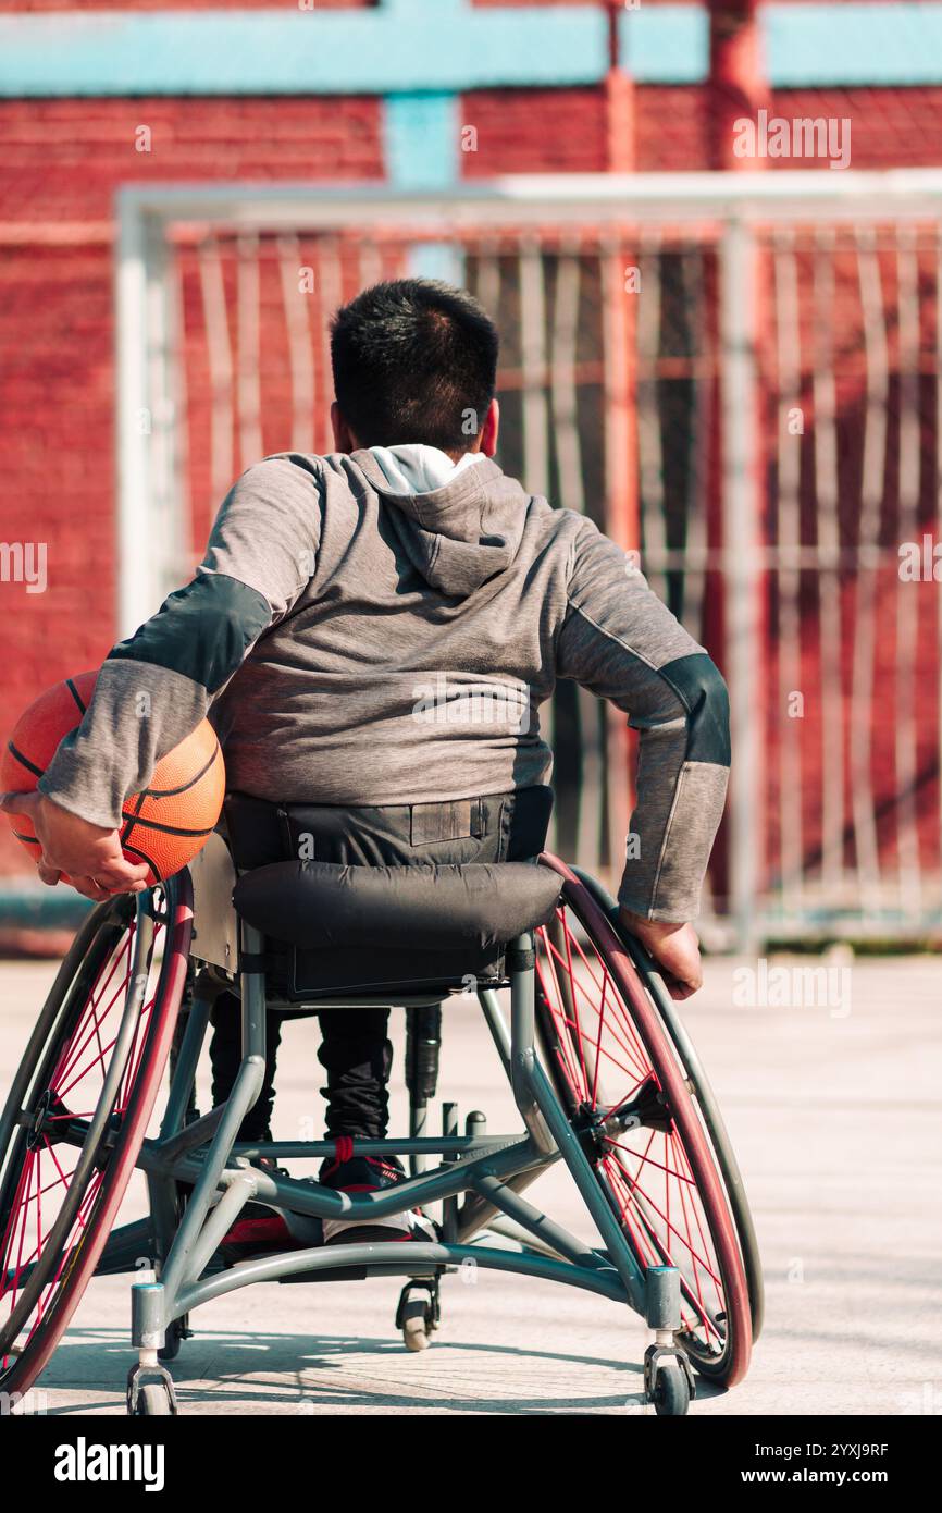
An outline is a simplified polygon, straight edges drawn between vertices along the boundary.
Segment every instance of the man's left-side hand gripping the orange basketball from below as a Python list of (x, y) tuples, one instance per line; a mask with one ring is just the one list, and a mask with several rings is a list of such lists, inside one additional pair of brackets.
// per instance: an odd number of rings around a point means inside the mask
[(142, 893), (147, 887), (147, 864), (125, 861), (118, 831), (89, 825), (44, 793), (0, 793), (0, 809), (33, 822), (41, 846), (39, 876), (50, 888), (67, 873), (73, 888), (98, 903), (113, 893)]

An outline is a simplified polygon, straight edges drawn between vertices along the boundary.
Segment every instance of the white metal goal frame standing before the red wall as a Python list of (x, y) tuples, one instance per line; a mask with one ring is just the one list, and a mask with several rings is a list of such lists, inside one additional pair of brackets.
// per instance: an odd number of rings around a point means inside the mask
[[(448, 191), (404, 192), (380, 185), (147, 185), (118, 192), (115, 263), (116, 309), (116, 472), (118, 472), (118, 623), (129, 634), (159, 602), (166, 572), (157, 542), (172, 536), (183, 493), (180, 372), (174, 348), (178, 312), (169, 269), (169, 230), (191, 224), (227, 233), (331, 230), (360, 225), (364, 235), (414, 228), (416, 244), (454, 244), (463, 228), (484, 225), (534, 235), (585, 224), (624, 228), (709, 225), (718, 257), (717, 322), (721, 350), (718, 427), (721, 437), (726, 658), (732, 701), (735, 761), (729, 808), (729, 912), (726, 940), (753, 949), (768, 935), (800, 935), (820, 926), (820, 909), (768, 908), (762, 899), (762, 856), (756, 823), (762, 803), (762, 732), (755, 711), (762, 702), (761, 593), (770, 548), (761, 537), (762, 448), (758, 415), (758, 257), (759, 236), (777, 227), (842, 227), (857, 222), (942, 227), (942, 171), (836, 172), (782, 171), (739, 174), (567, 174), (516, 176)], [(942, 231), (940, 241), (942, 241)], [(942, 289), (942, 274), (939, 287)], [(937, 322), (942, 327), (942, 318)], [(939, 337), (942, 348), (942, 336)], [(615, 375), (615, 383), (620, 378)], [(626, 395), (621, 398), (626, 401)], [(942, 401), (940, 401), (942, 404)], [(942, 437), (942, 427), (937, 433)], [(939, 443), (942, 454), (942, 442)], [(942, 474), (942, 466), (939, 466)], [(631, 520), (618, 501), (618, 478), (608, 471), (614, 537), (626, 549)], [(566, 501), (561, 501), (566, 502)], [(163, 528), (153, 530), (154, 522)], [(169, 525), (169, 530), (168, 530)], [(942, 539), (942, 530), (939, 531)], [(668, 563), (670, 552), (664, 557)], [(658, 567), (646, 552), (646, 570)], [(942, 616), (940, 616), (942, 619)], [(942, 704), (942, 701), (940, 701)], [(940, 735), (942, 746), (942, 735)], [(623, 811), (617, 812), (617, 822)], [(615, 825), (617, 828), (617, 825)], [(912, 935), (942, 921), (933, 868), (931, 893), (916, 903), (859, 911), (826, 911), (824, 934)], [(718, 926), (720, 921), (715, 921)], [(723, 930), (718, 932), (718, 938)]]

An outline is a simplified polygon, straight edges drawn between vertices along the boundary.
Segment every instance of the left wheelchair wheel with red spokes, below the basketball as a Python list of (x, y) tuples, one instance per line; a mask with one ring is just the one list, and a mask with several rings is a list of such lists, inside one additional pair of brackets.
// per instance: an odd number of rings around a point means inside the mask
[(169, 1050), (191, 927), (189, 873), (100, 903), (42, 1006), (0, 1117), (3, 1392), (26, 1392), (48, 1363), (113, 1227)]

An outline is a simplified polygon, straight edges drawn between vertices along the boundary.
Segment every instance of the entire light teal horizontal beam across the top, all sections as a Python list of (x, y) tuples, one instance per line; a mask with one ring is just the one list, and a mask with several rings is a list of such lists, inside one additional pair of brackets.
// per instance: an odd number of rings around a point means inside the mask
[[(774, 88), (942, 83), (942, 3), (774, 5), (759, 14)], [(699, 83), (703, 6), (626, 11), (640, 83)], [(0, 17), (0, 95), (414, 94), (597, 83), (602, 8), (386, 0), (375, 11), (57, 12)]]

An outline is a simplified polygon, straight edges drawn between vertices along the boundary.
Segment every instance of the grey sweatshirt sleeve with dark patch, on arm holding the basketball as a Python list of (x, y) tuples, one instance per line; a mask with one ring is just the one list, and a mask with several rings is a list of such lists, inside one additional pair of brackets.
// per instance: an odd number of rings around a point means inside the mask
[(47, 797), (116, 829), (129, 793), (204, 719), (213, 696), (313, 575), (319, 475), (269, 457), (227, 495), (195, 578), (109, 652), (82, 723), (39, 779)]

